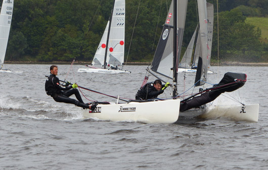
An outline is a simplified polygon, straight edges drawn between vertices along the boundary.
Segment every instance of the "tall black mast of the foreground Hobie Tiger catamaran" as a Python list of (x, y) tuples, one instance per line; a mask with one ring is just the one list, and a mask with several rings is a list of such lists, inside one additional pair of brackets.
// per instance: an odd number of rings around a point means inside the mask
[(173, 97), (177, 95), (177, 0), (173, 1)]

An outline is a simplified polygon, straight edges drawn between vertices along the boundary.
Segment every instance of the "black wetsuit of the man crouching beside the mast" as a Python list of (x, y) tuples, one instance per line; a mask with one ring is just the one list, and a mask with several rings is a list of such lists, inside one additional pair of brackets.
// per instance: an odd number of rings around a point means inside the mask
[[(162, 88), (165, 85), (162, 85)], [(136, 100), (147, 100), (156, 98), (159, 94), (162, 94), (164, 90), (162, 88), (158, 91), (155, 89), (153, 83), (147, 83), (141, 89), (138, 90), (136, 94)]]

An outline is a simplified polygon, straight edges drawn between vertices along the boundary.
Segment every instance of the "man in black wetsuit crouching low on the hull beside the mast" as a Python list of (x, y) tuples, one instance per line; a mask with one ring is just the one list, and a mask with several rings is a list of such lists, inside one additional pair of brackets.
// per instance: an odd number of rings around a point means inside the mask
[(169, 82), (167, 82), (165, 85), (162, 85), (162, 82), (160, 80), (155, 80), (154, 82), (147, 83), (138, 90), (136, 94), (136, 100), (154, 99), (159, 94), (162, 94), (164, 92), (164, 89), (169, 85)]

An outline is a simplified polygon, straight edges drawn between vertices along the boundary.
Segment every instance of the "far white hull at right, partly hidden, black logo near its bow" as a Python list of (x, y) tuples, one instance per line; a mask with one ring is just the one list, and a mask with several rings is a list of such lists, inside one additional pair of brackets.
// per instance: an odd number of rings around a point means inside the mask
[(180, 112), (180, 117), (205, 119), (227, 118), (233, 121), (258, 122), (259, 104), (248, 105), (207, 105), (205, 108)]

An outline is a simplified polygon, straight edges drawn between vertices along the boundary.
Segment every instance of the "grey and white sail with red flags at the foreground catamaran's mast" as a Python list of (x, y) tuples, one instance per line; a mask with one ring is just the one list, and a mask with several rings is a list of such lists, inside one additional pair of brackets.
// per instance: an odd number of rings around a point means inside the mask
[[(180, 56), (184, 34), (188, 0), (177, 0), (177, 55)], [(173, 79), (173, 0), (170, 4), (166, 21), (160, 36), (152, 62), (151, 70)], [(176, 68), (178, 60), (176, 60)], [(174, 69), (176, 69), (174, 68)]]

